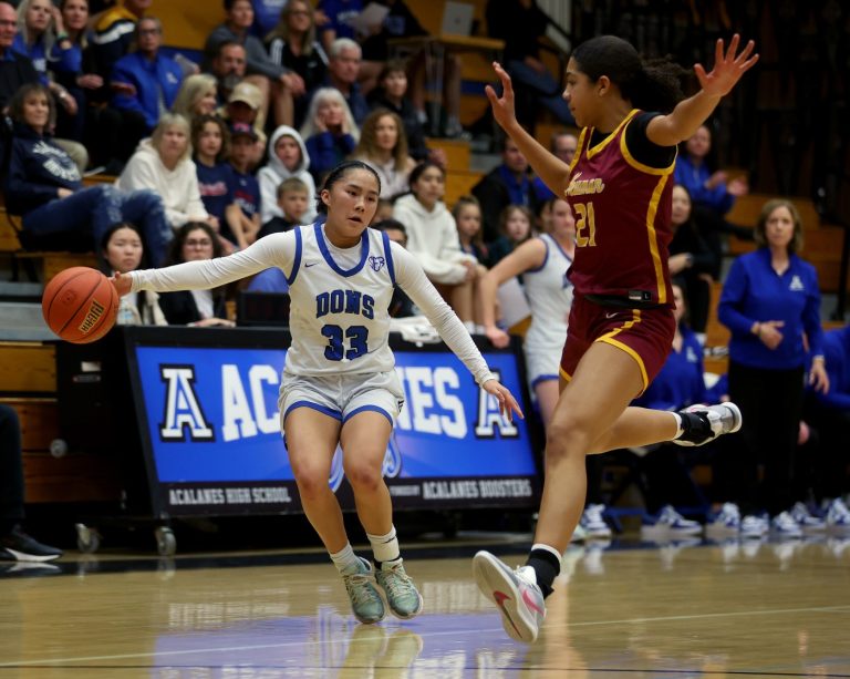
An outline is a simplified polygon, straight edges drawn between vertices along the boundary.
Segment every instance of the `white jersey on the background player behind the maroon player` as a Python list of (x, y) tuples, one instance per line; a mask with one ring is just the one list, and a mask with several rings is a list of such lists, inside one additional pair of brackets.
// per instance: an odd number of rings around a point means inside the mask
[(525, 343), (531, 346), (562, 346), (567, 339), (567, 320), (572, 306), (572, 285), (567, 269), (572, 259), (560, 245), (543, 234), (546, 259), (537, 268), (522, 274), (528, 306), (531, 307), (531, 327)]

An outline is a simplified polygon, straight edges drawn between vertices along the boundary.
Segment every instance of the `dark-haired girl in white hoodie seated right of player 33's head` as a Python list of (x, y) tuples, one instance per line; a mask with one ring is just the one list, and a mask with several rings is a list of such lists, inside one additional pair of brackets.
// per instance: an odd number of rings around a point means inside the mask
[(407, 229), (407, 249), (432, 282), (449, 287), (452, 308), (470, 331), (481, 326), (478, 281), (487, 269), (460, 249), (457, 225), (443, 203), (446, 175), (435, 163), (425, 162), (411, 172), (411, 193), (400, 197), (393, 218)]

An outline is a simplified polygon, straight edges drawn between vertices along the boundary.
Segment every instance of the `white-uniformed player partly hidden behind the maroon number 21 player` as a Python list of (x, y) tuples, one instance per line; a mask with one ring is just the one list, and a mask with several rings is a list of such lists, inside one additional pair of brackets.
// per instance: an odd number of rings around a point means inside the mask
[(508, 335), (496, 327), (496, 290), (522, 274), (531, 326), (522, 341), (529, 387), (535, 391), (543, 426), (558, 402), (561, 350), (572, 306), (567, 269), (576, 253), (576, 220), (569, 203), (552, 199), (550, 234), (526, 240), (487, 272), (480, 284), (484, 329), (495, 347), (507, 347)]

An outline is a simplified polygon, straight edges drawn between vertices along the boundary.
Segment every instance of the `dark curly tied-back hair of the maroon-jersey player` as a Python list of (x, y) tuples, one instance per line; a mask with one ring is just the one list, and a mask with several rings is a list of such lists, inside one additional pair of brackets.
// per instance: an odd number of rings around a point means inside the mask
[(631, 43), (616, 35), (582, 42), (572, 58), (592, 82), (608, 76), (636, 109), (670, 113), (684, 96), (681, 79), (685, 69), (666, 58), (644, 61)]

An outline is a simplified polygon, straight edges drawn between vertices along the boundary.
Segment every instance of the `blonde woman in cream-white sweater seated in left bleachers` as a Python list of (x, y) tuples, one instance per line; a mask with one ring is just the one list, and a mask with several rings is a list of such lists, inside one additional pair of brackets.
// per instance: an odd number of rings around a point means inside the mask
[(206, 222), (218, 232), (218, 219), (200, 199), (198, 175), (191, 161), (189, 123), (179, 114), (166, 113), (148, 140), (142, 140), (116, 182), (118, 188), (149, 188), (159, 195), (173, 229), (187, 222)]

